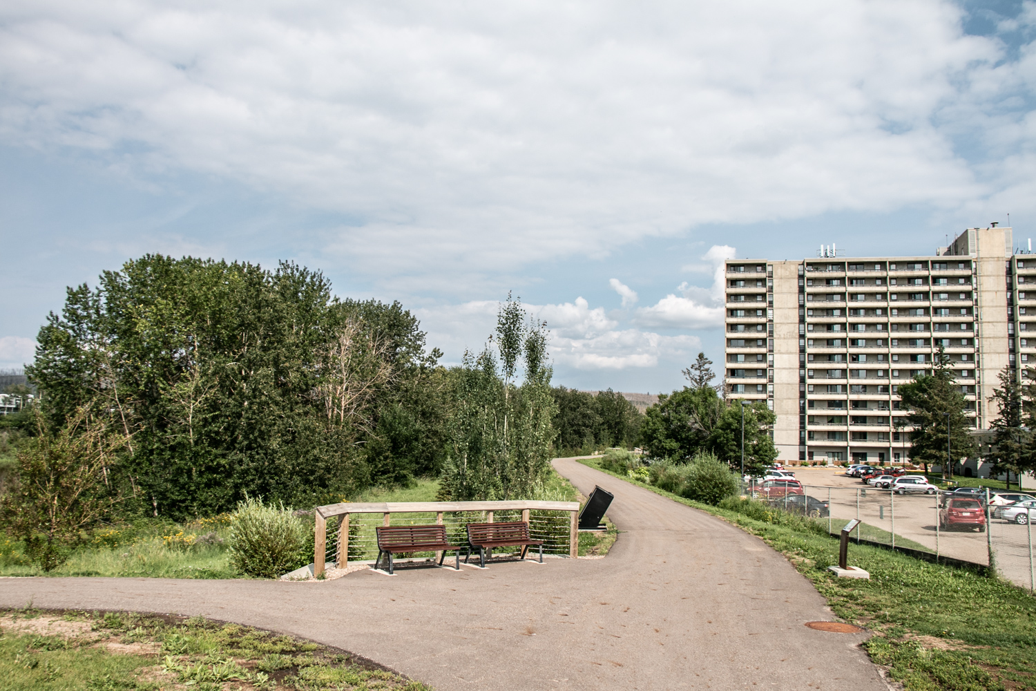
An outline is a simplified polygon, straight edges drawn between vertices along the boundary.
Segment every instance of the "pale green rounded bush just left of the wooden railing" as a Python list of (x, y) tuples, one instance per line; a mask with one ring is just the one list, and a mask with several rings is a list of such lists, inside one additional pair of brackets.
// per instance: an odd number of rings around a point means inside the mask
[(234, 512), (230, 565), (246, 576), (277, 578), (310, 563), (307, 542), (305, 523), (290, 511), (247, 498)]

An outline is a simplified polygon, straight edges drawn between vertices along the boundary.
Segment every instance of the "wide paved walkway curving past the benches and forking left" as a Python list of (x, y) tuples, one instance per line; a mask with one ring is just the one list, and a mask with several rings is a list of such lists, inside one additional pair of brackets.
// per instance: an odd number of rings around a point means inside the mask
[(0, 580), (0, 605), (201, 614), (337, 645), (439, 691), (854, 689), (886, 691), (859, 635), (758, 539), (574, 460), (584, 493), (615, 495), (624, 530), (603, 559), (361, 571), (323, 583)]

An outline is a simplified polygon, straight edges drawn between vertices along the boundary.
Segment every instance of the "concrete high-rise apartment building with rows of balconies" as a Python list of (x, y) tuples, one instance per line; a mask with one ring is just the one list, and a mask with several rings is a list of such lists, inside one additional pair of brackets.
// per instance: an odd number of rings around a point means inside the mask
[(730, 259), (725, 330), (726, 395), (767, 401), (779, 460), (900, 460), (897, 390), (940, 345), (980, 430), (1000, 371), (1036, 366), (1036, 255), (994, 225), (929, 257)]

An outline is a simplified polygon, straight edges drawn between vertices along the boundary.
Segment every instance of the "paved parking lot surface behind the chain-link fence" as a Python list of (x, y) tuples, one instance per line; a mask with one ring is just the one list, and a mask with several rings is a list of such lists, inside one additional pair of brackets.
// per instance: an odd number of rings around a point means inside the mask
[[(837, 519), (860, 518), (864, 523), (894, 532), (896, 540), (905, 538), (942, 555), (976, 564), (988, 564), (988, 543), (985, 532), (974, 528), (936, 530), (938, 522), (937, 495), (895, 494), (888, 490), (868, 488), (858, 478), (848, 478), (842, 470), (821, 467), (790, 468), (806, 486), (809, 496), (827, 500), (831, 497), (832, 522)], [(894, 523), (894, 529), (893, 529)], [(891, 536), (889, 536), (890, 540)], [(1031, 586), (1030, 528), (1000, 519), (989, 525), (997, 568), (1012, 582)], [(906, 543), (900, 546), (912, 547)]]

